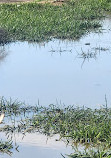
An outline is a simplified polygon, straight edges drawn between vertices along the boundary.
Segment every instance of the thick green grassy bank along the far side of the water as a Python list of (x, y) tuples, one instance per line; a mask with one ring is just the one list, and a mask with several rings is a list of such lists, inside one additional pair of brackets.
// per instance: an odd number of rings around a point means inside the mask
[(10, 40), (45, 41), (51, 38), (78, 39), (97, 29), (105, 10), (111, 10), (108, 0), (72, 0), (62, 6), (53, 4), (2, 4), (0, 27)]

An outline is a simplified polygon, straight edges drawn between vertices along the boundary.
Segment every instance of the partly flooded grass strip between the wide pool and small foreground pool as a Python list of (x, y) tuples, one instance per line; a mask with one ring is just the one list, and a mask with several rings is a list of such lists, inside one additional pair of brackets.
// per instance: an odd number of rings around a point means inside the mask
[[(73, 140), (73, 143), (111, 145), (111, 109), (100, 108), (59, 108), (54, 105), (49, 107), (21, 106), (15, 103), (1, 101), (1, 110), (7, 116), (32, 113), (31, 118), (22, 120), (22, 123), (14, 127), (17, 131), (39, 131), (47, 135), (60, 134), (60, 137)], [(3, 107), (4, 106), (4, 107)], [(7, 126), (10, 127), (10, 126)], [(1, 131), (5, 128), (0, 128)], [(12, 128), (10, 128), (12, 130)], [(4, 130), (4, 131), (5, 131)], [(10, 130), (9, 130), (10, 131)]]

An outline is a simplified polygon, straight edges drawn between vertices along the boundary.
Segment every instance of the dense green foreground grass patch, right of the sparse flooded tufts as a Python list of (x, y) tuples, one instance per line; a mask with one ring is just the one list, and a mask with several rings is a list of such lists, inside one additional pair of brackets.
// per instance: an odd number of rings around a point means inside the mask
[(111, 145), (111, 109), (49, 108), (30, 122), (45, 134), (60, 134), (74, 143)]

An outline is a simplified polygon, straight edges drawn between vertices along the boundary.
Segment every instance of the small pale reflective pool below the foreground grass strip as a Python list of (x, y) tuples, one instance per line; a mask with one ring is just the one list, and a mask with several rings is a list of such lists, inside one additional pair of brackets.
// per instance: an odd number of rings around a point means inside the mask
[[(3, 137), (4, 135), (2, 135)], [(16, 141), (19, 145), (19, 152), (14, 150), (12, 158), (62, 158), (61, 154), (70, 154), (72, 147), (67, 146), (62, 141), (55, 141), (59, 136), (48, 138), (42, 134), (26, 134), (23, 139), (23, 135), (19, 134), (14, 136), (13, 141)], [(1, 158), (10, 158), (7, 154), (0, 154)]]

